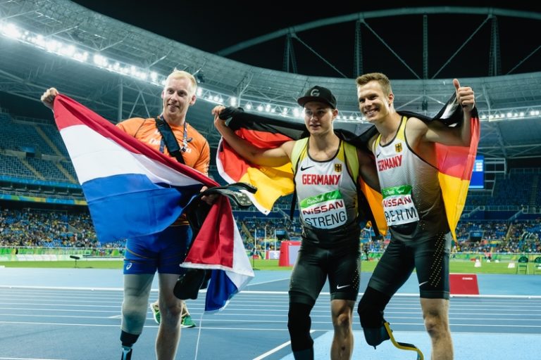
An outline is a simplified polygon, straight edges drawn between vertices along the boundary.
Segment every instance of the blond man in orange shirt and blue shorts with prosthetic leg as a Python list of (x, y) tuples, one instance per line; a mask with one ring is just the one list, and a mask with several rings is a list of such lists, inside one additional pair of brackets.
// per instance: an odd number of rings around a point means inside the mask
[[(191, 74), (174, 70), (167, 77), (161, 91), (163, 109), (158, 118), (135, 117), (124, 120), (117, 126), (151, 148), (172, 156), (156, 128), (158, 119), (167, 122), (182, 149), (185, 165), (207, 174), (210, 162), (209, 143), (186, 120), (189, 107), (196, 101), (196, 90), (197, 82)], [(42, 95), (42, 103), (52, 109), (56, 95), (56, 89), (48, 89)], [(212, 203), (215, 199), (204, 197), (203, 200)], [(183, 269), (179, 264), (184, 261), (191, 240), (192, 230), (184, 216), (161, 233), (127, 240), (123, 270), (121, 359), (131, 359), (132, 346), (142, 333), (156, 271), (159, 278), (158, 303), (161, 309), (156, 337), (156, 359), (175, 359), (180, 342), (183, 301), (175, 297), (173, 289), (178, 276), (182, 274)]]

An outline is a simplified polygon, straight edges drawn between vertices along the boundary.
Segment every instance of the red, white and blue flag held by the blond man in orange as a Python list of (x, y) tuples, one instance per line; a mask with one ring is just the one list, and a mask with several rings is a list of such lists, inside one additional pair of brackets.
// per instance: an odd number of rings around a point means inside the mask
[[(56, 96), (54, 117), (101, 243), (163, 231), (202, 186), (218, 186), (67, 96)], [(223, 309), (254, 278), (227, 198), (211, 207), (182, 266), (213, 270), (207, 312)]]

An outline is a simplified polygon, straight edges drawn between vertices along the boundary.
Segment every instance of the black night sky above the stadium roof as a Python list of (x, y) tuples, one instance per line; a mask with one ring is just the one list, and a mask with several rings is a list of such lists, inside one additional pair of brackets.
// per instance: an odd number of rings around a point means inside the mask
[[(541, 13), (541, 4), (521, 1), (97, 1), (76, 0), (77, 4), (174, 39), (197, 49), (216, 53), (241, 41), (301, 25), (314, 20), (366, 11), (421, 6), (475, 6), (511, 8)], [(530, 2), (530, 1), (528, 1)], [(532, 3), (534, 1), (531, 1)], [(325, 3), (323, 3), (325, 4)], [(434, 77), (444, 63), (481, 25), (480, 15), (429, 15), (428, 77)], [(499, 17), (502, 71), (505, 75), (541, 45), (541, 20)], [(368, 19), (375, 32), (396, 51), (407, 65), (422, 76), (421, 16)], [(457, 56), (435, 77), (488, 76), (490, 26), (483, 25)], [(535, 37), (533, 37), (535, 34)], [(299, 38), (332, 69), (294, 40), (297, 72), (304, 75), (354, 78), (354, 23), (299, 32)], [(392, 79), (416, 79), (370, 30), (363, 27), (363, 72), (381, 71)], [(262, 68), (283, 70), (284, 37), (233, 53), (228, 58)], [(541, 70), (541, 50), (533, 53), (513, 73)]]

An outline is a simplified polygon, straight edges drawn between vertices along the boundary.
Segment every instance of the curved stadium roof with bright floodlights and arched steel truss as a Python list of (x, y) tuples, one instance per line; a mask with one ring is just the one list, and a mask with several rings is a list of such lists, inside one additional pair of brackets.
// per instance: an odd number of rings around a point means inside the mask
[[(478, 15), (484, 19), (480, 27), (492, 26), (491, 36), (486, 41), (490, 43), (488, 57), (495, 76), (461, 78), (461, 84), (472, 86), (477, 96), (482, 121), (479, 152), (487, 158), (540, 157), (541, 65), (538, 72), (498, 75), (501, 73), (498, 55), (501, 37), (495, 20), (511, 16), (541, 25), (541, 13), (453, 7), (372, 11), (274, 32), (230, 46), (220, 51), (220, 56), (108, 18), (68, 0), (2, 1), (0, 91), (39, 101), (46, 88), (55, 86), (61, 93), (115, 122), (134, 116), (158, 115), (163, 79), (173, 68), (178, 68), (191, 72), (200, 81), (198, 101), (189, 111), (188, 121), (207, 136), (213, 147), (218, 142), (218, 133), (213, 129), (211, 108), (216, 104), (251, 107), (254, 111), (259, 108), (263, 113), (294, 117), (301, 122), (301, 118), (294, 115), (294, 111), (300, 110), (296, 99), (315, 84), (326, 86), (336, 94), (341, 114), (338, 121), (359, 122), (362, 116), (356, 105), (352, 78), (269, 70), (224, 56), (268, 39), (294, 37), (298, 32), (333, 23), (356, 20), (362, 24), (368, 18), (402, 15), (425, 19), (439, 13)], [(504, 29), (499, 29), (502, 31)], [(535, 34), (528, 41), (531, 51), (521, 62), (541, 51), (541, 37)], [(362, 52), (360, 45), (357, 53)], [(385, 46), (392, 52), (392, 47)], [(457, 52), (451, 51), (449, 61)], [(451, 78), (428, 77), (427, 57), (428, 49), (425, 49), (423, 71), (416, 75), (418, 79), (392, 79), (398, 110), (433, 115), (454, 92)], [(399, 60), (406, 65), (404, 60)], [(464, 62), (467, 66), (466, 60)], [(0, 105), (9, 108), (8, 104)]]

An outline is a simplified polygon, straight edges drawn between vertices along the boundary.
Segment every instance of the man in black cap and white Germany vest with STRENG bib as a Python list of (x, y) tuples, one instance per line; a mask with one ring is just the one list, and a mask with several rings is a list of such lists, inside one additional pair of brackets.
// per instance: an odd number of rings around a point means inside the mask
[(273, 167), (292, 163), (303, 229), (289, 290), (287, 327), (294, 358), (313, 359), (310, 313), (328, 279), (335, 330), (330, 357), (350, 359), (352, 314), (359, 293), (359, 220), (363, 220), (357, 179), (378, 190), (378, 176), (369, 155), (335, 134), (337, 101), (329, 89), (313, 86), (297, 102), (304, 108), (309, 137), (278, 148), (256, 148), (237, 136), (219, 117), (223, 106), (212, 110), (214, 124), (224, 141), (249, 162)]

